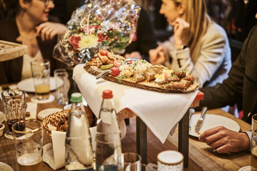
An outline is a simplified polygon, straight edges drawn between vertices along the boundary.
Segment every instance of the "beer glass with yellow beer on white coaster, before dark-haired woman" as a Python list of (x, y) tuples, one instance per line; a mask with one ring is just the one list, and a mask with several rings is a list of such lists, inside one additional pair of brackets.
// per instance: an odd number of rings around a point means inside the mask
[(38, 100), (46, 100), (50, 96), (50, 61), (34, 60), (31, 63), (35, 95)]

